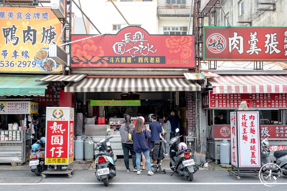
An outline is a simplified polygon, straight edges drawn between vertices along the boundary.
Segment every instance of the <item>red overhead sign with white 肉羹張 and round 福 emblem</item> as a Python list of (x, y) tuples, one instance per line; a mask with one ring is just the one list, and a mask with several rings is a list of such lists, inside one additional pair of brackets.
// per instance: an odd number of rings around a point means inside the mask
[(286, 27), (204, 27), (205, 60), (287, 60)]

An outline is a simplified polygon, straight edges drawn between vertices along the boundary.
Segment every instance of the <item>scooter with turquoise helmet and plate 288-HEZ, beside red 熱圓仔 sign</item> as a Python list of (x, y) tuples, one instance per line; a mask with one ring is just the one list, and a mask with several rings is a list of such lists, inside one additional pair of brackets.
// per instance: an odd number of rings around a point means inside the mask
[(41, 137), (31, 147), (29, 166), (31, 166), (31, 171), (37, 176), (40, 176), (42, 171), (49, 168), (49, 165), (45, 165), (45, 141), (46, 138)]

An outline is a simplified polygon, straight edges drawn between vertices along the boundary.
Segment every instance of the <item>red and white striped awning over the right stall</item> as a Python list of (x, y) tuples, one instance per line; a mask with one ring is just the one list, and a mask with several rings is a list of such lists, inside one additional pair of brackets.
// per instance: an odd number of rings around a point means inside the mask
[(287, 93), (286, 75), (221, 75), (208, 82), (214, 94)]

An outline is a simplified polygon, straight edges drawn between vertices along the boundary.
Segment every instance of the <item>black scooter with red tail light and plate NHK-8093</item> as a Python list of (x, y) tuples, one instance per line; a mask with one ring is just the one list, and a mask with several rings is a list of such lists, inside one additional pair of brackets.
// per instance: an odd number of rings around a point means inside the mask
[[(178, 133), (179, 129), (176, 129), (176, 132)], [(199, 168), (193, 160), (190, 149), (178, 150), (178, 140), (180, 137), (182, 137), (182, 135), (170, 139), (169, 165), (171, 170), (174, 171), (170, 176), (177, 173), (180, 176), (185, 176), (188, 181), (192, 181), (193, 174), (199, 170)]]

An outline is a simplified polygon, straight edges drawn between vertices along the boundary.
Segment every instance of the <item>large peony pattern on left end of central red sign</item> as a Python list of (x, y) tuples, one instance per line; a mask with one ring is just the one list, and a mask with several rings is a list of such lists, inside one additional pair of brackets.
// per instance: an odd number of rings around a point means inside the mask
[(86, 64), (91, 67), (108, 66), (106, 60), (109, 58), (101, 57), (104, 56), (101, 46), (96, 46), (91, 39), (82, 40), (81, 43), (72, 46), (72, 55), (75, 55), (72, 56), (73, 64), (78, 64), (78, 67), (87, 66)]

